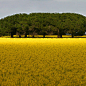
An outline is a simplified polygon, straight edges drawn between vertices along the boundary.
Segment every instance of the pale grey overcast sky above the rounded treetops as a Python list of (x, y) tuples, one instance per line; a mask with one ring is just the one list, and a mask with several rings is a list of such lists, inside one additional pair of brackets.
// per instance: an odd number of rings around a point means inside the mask
[(38, 12), (86, 16), (86, 0), (0, 0), (0, 19), (19, 13)]

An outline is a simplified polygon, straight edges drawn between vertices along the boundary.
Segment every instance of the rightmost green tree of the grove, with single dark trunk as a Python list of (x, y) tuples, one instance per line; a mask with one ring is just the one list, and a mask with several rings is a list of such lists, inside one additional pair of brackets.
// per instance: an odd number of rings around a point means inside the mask
[[(83, 31), (84, 28), (83, 28), (83, 25), (85, 22), (83, 22), (83, 19), (84, 17), (83, 16), (80, 16), (80, 15), (76, 15), (76, 14), (66, 14), (68, 15), (67, 16), (67, 19), (66, 19), (66, 30), (68, 33), (71, 33), (72, 35), (72, 38), (74, 37), (74, 35), (76, 34), (76, 31), (80, 31), (81, 28)], [(78, 21), (77, 21), (78, 20)]]

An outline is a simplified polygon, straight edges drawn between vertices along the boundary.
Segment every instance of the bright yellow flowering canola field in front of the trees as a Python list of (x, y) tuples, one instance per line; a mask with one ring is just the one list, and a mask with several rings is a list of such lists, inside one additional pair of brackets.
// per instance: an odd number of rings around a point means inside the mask
[(0, 38), (0, 86), (86, 86), (86, 38)]

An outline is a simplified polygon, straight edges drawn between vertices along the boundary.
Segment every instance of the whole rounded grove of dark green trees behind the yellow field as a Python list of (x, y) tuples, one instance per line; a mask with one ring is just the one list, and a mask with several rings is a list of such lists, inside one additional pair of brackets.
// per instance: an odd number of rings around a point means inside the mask
[(31, 13), (15, 14), (0, 19), (0, 36), (11, 35), (57, 35), (65, 33), (84, 35), (86, 17), (76, 13)]

